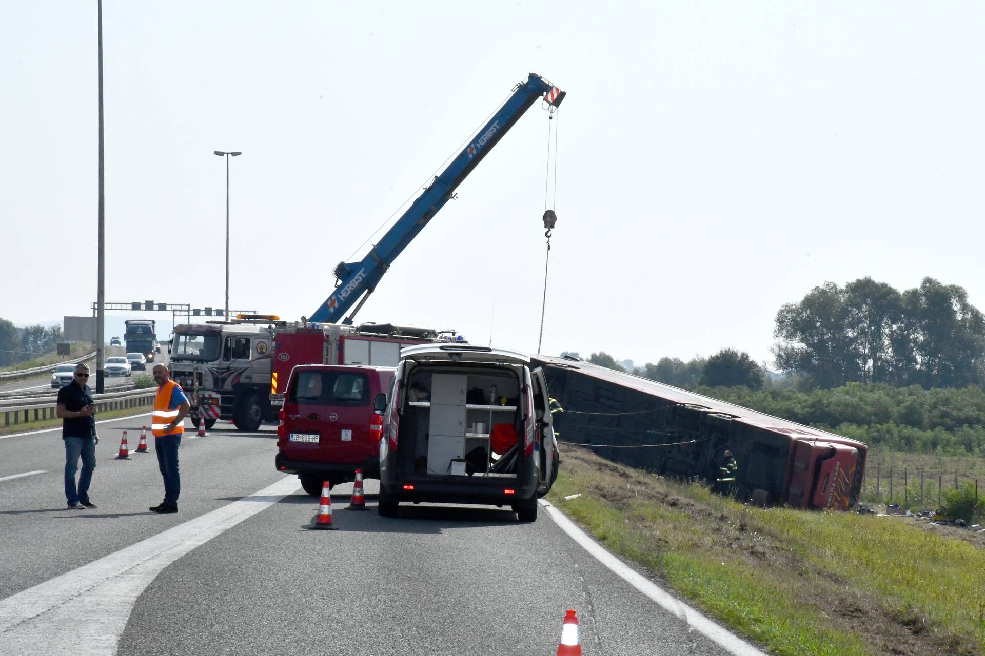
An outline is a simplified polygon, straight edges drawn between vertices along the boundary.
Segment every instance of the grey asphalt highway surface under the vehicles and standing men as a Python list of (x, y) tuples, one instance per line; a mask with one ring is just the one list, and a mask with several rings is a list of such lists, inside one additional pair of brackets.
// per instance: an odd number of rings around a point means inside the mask
[(186, 427), (180, 510), (152, 513), (153, 438), (115, 459), (148, 419), (98, 425), (98, 509), (66, 509), (58, 431), (0, 439), (0, 653), (555, 654), (567, 609), (586, 655), (729, 653), (543, 508), (534, 523), (440, 505), (384, 518), (369, 480), (368, 511), (339, 486), (338, 530), (308, 530), (318, 500), (274, 470), (272, 427)]

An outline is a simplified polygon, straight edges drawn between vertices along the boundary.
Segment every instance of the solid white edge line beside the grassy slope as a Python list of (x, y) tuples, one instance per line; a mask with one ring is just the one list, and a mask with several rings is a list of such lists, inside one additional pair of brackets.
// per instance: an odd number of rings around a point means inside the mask
[(690, 628), (703, 634), (730, 654), (735, 654), (735, 656), (766, 656), (755, 646), (704, 617), (688, 606), (688, 604), (654, 584), (649, 578), (637, 573), (631, 567), (625, 566), (622, 561), (606, 551), (599, 543), (589, 537), (587, 533), (578, 528), (574, 522), (564, 516), (557, 507), (552, 506), (544, 500), (541, 500), (540, 504), (548, 511), (560, 529), (567, 533), (572, 540), (581, 545), (585, 551), (594, 556), (599, 563), (612, 569), (626, 583), (642, 592), (664, 610), (675, 615), (679, 620), (687, 623)]

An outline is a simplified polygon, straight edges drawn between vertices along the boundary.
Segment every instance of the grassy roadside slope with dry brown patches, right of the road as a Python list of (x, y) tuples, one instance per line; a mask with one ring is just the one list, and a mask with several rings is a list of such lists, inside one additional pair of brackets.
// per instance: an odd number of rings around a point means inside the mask
[(745, 507), (578, 447), (564, 449), (549, 500), (609, 550), (773, 653), (985, 650), (985, 533)]

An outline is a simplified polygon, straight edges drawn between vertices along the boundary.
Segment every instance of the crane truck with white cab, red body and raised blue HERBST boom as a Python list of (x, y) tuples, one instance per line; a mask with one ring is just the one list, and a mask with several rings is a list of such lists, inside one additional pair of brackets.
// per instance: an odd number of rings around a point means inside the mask
[(538, 99), (554, 112), (564, 96), (565, 91), (536, 73), (516, 84), (468, 146), (435, 176), (369, 253), (360, 262), (342, 262), (334, 268), (335, 289), (310, 319), (288, 323), (275, 316), (243, 316), (175, 328), (171, 374), (182, 388), (191, 390), (192, 423), (198, 427), (205, 421), (211, 428), (217, 420), (228, 419), (239, 430), (253, 431), (263, 421), (274, 419), (274, 408), (283, 402), (283, 386), (296, 365), (396, 366), (402, 346), (461, 341), (454, 330), (355, 326), (353, 320), (397, 256), (454, 198), (456, 188), (520, 116)]

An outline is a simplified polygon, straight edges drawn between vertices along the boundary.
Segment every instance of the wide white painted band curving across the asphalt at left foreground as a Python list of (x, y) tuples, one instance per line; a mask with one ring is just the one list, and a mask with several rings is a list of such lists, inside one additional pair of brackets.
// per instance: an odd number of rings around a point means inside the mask
[(295, 477), (282, 479), (228, 506), (7, 597), (0, 601), (4, 653), (115, 654), (133, 605), (164, 567), (281, 501), (297, 487)]

